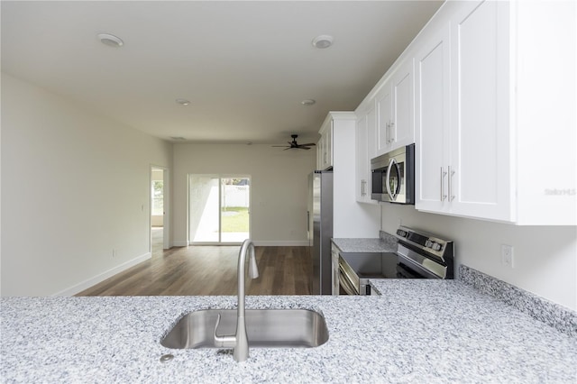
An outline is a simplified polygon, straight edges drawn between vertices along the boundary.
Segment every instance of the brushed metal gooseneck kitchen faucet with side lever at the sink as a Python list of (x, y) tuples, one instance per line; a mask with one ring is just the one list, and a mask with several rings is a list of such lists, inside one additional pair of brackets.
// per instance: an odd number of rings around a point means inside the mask
[(256, 264), (254, 255), (254, 244), (251, 239), (246, 239), (238, 253), (238, 268), (236, 270), (238, 279), (238, 307), (236, 309), (236, 334), (227, 336), (218, 336), (216, 329), (220, 324), (220, 314), (216, 319), (215, 325), (215, 345), (227, 348), (234, 348), (233, 357), (235, 361), (246, 361), (249, 358), (249, 341), (246, 334), (246, 321), (244, 320), (244, 267), (246, 264), (246, 253), (249, 256), (249, 278), (256, 279), (259, 277), (259, 269)]

